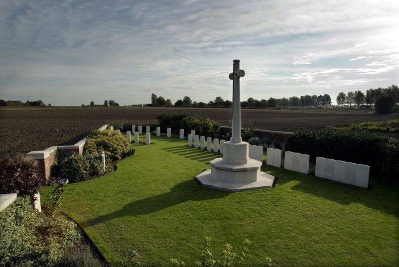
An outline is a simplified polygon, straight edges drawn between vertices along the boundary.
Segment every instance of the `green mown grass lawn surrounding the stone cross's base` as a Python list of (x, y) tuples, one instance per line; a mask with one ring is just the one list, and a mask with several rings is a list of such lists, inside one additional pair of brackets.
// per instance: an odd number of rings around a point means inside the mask
[(151, 140), (132, 144), (117, 171), (67, 185), (61, 201), (111, 264), (135, 250), (149, 266), (193, 266), (209, 236), (216, 255), (251, 240), (243, 266), (398, 266), (398, 185), (371, 178), (363, 189), (264, 164), (275, 188), (228, 193), (193, 180), (220, 154)]

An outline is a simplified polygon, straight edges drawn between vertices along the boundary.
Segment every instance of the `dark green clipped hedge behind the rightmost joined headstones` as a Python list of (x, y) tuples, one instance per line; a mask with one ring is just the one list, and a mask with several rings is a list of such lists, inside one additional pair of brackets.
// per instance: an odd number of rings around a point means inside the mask
[(399, 181), (399, 140), (368, 133), (296, 132), (287, 151), (365, 164), (376, 177)]

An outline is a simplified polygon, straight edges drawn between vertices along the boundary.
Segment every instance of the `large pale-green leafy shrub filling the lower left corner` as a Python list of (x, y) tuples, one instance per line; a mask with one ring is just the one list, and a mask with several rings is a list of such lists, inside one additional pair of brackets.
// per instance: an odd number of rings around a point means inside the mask
[(34, 211), (28, 197), (0, 213), (0, 229), (0, 266), (52, 266), (80, 238), (72, 221)]

